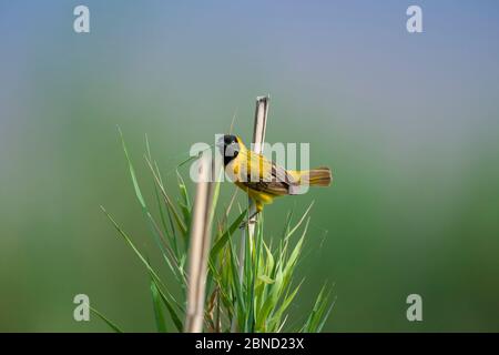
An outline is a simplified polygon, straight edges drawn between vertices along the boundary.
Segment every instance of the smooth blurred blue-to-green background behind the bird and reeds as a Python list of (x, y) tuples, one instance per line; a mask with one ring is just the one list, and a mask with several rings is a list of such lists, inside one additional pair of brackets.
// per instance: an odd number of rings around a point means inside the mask
[(315, 200), (293, 320), (328, 281), (326, 331), (499, 331), (499, 6), (417, 2), (420, 34), (408, 1), (86, 0), (77, 34), (81, 2), (1, 0), (0, 331), (108, 331), (74, 322), (78, 293), (154, 331), (147, 275), (99, 209), (154, 253), (116, 124), (152, 197), (144, 134), (167, 175), (234, 112), (248, 142), (266, 93), (267, 141), (309, 142), (336, 179), (265, 212), (276, 235)]

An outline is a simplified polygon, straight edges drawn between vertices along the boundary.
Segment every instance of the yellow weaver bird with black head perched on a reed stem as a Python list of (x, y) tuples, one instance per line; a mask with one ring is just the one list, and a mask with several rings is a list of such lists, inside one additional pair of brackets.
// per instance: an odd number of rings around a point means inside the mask
[(303, 186), (328, 186), (332, 181), (329, 168), (285, 170), (246, 149), (236, 135), (225, 134), (216, 145), (224, 158), (225, 173), (255, 201), (255, 214), (262, 212), (264, 204), (272, 203), (275, 197), (299, 194)]

